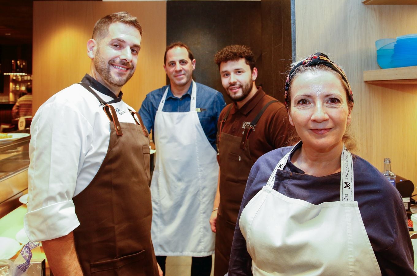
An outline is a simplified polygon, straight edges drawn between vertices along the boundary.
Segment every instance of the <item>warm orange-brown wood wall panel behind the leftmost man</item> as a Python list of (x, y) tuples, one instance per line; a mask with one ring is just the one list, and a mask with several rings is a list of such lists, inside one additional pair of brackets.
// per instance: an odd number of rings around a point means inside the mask
[(50, 96), (78, 83), (90, 69), (87, 40), (103, 16), (128, 11), (143, 28), (135, 74), (123, 100), (135, 110), (146, 94), (165, 85), (166, 2), (33, 2), (33, 113)]

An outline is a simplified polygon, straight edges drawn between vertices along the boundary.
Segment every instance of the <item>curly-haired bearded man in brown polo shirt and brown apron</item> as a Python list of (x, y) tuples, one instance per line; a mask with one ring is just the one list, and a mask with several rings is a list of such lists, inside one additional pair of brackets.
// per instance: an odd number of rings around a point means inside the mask
[(223, 276), (236, 219), (249, 171), (264, 153), (286, 146), (291, 125), (284, 104), (256, 87), (254, 54), (242, 45), (230, 45), (214, 56), (221, 83), (233, 103), (221, 111), (218, 122), (219, 183), (211, 230), (216, 233), (214, 275)]

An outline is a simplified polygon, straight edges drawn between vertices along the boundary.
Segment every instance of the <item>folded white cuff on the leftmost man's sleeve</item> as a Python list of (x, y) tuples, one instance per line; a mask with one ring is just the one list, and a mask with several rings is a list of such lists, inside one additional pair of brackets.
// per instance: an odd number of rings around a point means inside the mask
[(23, 219), (30, 241), (48, 241), (63, 237), (80, 225), (72, 200), (54, 203), (30, 211)]

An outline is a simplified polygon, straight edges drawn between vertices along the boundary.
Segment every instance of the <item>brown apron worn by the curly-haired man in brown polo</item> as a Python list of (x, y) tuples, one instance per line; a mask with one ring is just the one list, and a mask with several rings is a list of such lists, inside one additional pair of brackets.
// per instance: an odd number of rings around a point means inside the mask
[(236, 220), (243, 194), (254, 161), (249, 151), (249, 135), (272, 100), (259, 111), (251, 125), (246, 125), (243, 137), (222, 133), (232, 105), (227, 110), (219, 129), (220, 204), (216, 219), (216, 248), (214, 253), (214, 276), (224, 276), (229, 270), (229, 257)]

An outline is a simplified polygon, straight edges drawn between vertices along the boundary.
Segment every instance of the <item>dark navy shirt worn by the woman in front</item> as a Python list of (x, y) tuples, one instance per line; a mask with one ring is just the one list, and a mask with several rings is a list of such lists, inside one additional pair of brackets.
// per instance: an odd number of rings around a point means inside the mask
[[(266, 185), (276, 164), (291, 148), (270, 151), (256, 161), (249, 174), (237, 221), (249, 201)], [(369, 162), (353, 154), (352, 158), (354, 200), (358, 202), (382, 275), (415, 275), (407, 214), (399, 192)], [(289, 158), (284, 171), (277, 171), (273, 188), (284, 196), (316, 205), (340, 201), (340, 172), (322, 177), (310, 176), (294, 166)], [(246, 250), (239, 223), (236, 224), (229, 262), (229, 276), (236, 275), (252, 275), (251, 256)]]

